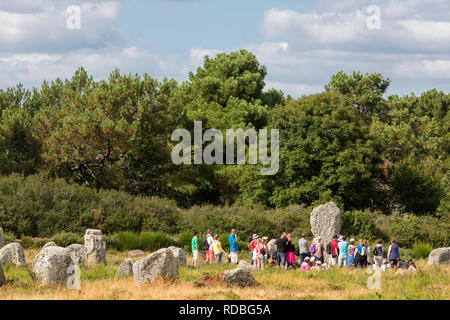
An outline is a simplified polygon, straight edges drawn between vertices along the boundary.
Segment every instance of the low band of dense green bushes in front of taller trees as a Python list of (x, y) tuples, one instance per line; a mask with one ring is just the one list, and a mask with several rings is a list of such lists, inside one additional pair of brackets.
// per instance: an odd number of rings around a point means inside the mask
[[(237, 205), (180, 209), (173, 200), (133, 196), (123, 191), (96, 191), (51, 179), (44, 173), (0, 177), (0, 225), (7, 235), (5, 238), (16, 239), (22, 234), (55, 236), (55, 242), (64, 246), (83, 243), (82, 235), (87, 228), (99, 228), (110, 247), (120, 250), (156, 248), (166, 243), (189, 249), (193, 231), (199, 231), (203, 240), (210, 228), (214, 234), (221, 235), (222, 245), (228, 249), (228, 235), (235, 228), (240, 247), (244, 249), (253, 233), (269, 238), (279, 237), (282, 232), (291, 232), (294, 238), (303, 232), (312, 236), (310, 212), (311, 208), (301, 205), (270, 210)], [(447, 246), (449, 231), (449, 214), (438, 218), (344, 211), (342, 216), (341, 233), (368, 240), (381, 237), (385, 241), (395, 236), (405, 248), (412, 248), (419, 240), (434, 247)], [(129, 244), (121, 247), (118, 234)], [(153, 235), (144, 240), (145, 236), (139, 234)], [(155, 237), (160, 240), (154, 240)]]

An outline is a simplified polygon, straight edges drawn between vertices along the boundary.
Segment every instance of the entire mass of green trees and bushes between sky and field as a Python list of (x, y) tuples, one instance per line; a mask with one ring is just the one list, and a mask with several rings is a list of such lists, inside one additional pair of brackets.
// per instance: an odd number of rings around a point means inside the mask
[[(275, 236), (309, 230), (305, 208), (334, 201), (420, 215), (413, 234), (448, 245), (450, 94), (386, 96), (381, 74), (339, 72), (323, 93), (293, 99), (264, 91), (266, 74), (240, 50), (205, 57), (182, 83), (119, 70), (94, 81), (80, 68), (39, 89), (0, 90), (0, 225), (33, 237), (86, 228), (225, 235), (235, 226)], [(279, 129), (278, 173), (174, 165), (171, 134), (192, 135), (194, 121), (222, 133)], [(379, 233), (361, 213), (347, 218), (351, 233)], [(371, 219), (383, 237), (412, 245), (401, 219)]]

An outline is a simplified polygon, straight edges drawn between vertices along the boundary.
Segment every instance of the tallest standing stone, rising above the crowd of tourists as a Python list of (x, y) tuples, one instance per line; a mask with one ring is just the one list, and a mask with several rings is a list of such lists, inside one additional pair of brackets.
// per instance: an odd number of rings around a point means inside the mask
[[(322, 244), (326, 248), (327, 244), (333, 239), (333, 235), (341, 231), (341, 210), (334, 204), (327, 204), (315, 207), (311, 212), (311, 231), (314, 237), (320, 236)], [(324, 250), (324, 261), (328, 263), (328, 254)]]

